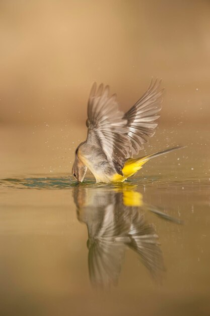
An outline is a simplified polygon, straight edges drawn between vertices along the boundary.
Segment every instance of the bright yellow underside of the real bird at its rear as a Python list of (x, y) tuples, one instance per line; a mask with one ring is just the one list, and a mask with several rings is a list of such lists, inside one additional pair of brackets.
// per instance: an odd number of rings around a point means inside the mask
[(117, 173), (112, 177), (112, 182), (123, 182), (125, 181), (128, 177), (133, 176), (139, 169), (142, 168), (142, 166), (147, 163), (149, 160), (147, 157), (143, 158), (138, 158), (138, 159), (128, 159), (124, 165), (124, 168), (122, 169), (123, 175), (118, 175)]

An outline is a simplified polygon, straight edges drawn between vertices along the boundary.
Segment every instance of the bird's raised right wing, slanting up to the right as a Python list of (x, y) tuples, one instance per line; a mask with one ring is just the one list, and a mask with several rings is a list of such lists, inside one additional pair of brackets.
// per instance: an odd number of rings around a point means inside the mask
[(132, 145), (131, 155), (138, 153), (146, 143), (147, 136), (155, 134), (158, 123), (155, 121), (160, 117), (162, 93), (160, 89), (161, 80), (151, 80), (150, 86), (145, 94), (125, 113), (123, 119), (127, 120), (128, 136)]

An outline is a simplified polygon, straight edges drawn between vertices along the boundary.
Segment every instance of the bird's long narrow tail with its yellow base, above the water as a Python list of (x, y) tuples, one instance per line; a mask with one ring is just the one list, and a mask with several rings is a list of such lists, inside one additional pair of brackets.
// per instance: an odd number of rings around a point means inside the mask
[(124, 168), (122, 170), (125, 177), (131, 177), (133, 176), (139, 169), (142, 168), (142, 166), (147, 163), (150, 159), (158, 157), (162, 154), (166, 154), (168, 152), (174, 151), (176, 149), (184, 148), (184, 146), (177, 146), (169, 149), (165, 149), (163, 151), (155, 152), (150, 155), (140, 157), (137, 159), (128, 159), (124, 165)]

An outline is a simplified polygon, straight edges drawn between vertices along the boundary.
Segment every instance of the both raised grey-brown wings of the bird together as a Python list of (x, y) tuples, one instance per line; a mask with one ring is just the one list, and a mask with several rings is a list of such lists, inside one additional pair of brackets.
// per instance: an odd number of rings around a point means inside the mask
[(161, 80), (151, 80), (145, 94), (125, 114), (119, 111), (116, 95), (109, 96), (109, 86), (97, 89), (93, 84), (88, 101), (87, 144), (98, 145), (107, 160), (123, 168), (125, 161), (138, 153), (155, 133), (161, 110)]

